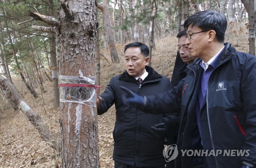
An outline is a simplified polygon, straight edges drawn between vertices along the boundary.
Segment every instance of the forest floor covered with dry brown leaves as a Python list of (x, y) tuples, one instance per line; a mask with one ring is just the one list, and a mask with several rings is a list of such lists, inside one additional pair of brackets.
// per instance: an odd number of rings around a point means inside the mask
[[(226, 41), (229, 41), (238, 51), (248, 52), (248, 30), (244, 25), (232, 25), (228, 27)], [(101, 90), (104, 91), (111, 77), (123, 73), (123, 47), (117, 44), (120, 63), (110, 64), (109, 51), (102, 50), (101, 54)], [(172, 70), (177, 53), (176, 35), (169, 35), (161, 40), (156, 40), (156, 49), (153, 51), (152, 67), (159, 74), (168, 78), (172, 77)], [(106, 59), (108, 61), (106, 61)], [(19, 77), (13, 77), (14, 85), (23, 96), (24, 101), (38, 113), (45, 125), (58, 137), (59, 109), (52, 105), (52, 84), (44, 83), (46, 92), (41, 93), (40, 88), (36, 91), (39, 98), (34, 99), (26, 89)], [(2, 95), (0, 94), (0, 97)], [(101, 167), (113, 167), (113, 136), (112, 131), (115, 124), (114, 105), (108, 112), (98, 116), (99, 158)], [(12, 107), (3, 98), (0, 98), (0, 167), (61, 167), (60, 154), (41, 139), (27, 117), (19, 110)]]

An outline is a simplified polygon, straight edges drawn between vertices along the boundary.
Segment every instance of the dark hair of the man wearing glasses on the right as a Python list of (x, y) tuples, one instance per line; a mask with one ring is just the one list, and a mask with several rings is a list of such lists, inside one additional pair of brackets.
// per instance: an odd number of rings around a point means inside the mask
[(206, 10), (191, 15), (184, 22), (184, 28), (197, 26), (202, 31), (214, 30), (219, 42), (224, 42), (227, 29), (227, 18), (224, 14), (215, 10)]

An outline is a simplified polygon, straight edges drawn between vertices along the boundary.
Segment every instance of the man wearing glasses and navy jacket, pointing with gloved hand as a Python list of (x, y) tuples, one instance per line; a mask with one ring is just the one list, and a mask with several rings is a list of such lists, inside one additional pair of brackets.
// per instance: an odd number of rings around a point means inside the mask
[(198, 12), (184, 28), (196, 58), (187, 76), (172, 90), (149, 97), (123, 88), (123, 101), (154, 113), (181, 110), (175, 167), (255, 167), (256, 57), (224, 43), (222, 13)]

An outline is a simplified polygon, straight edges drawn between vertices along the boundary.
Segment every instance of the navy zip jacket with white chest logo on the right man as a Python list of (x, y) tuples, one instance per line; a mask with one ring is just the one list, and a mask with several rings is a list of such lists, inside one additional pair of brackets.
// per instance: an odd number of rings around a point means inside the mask
[[(241, 168), (242, 162), (256, 165), (256, 57), (236, 52), (230, 43), (217, 57), (200, 113), (200, 138), (196, 122), (196, 103), (202, 68), (201, 59), (187, 67), (187, 76), (174, 89), (147, 97), (144, 110), (175, 112), (181, 110), (176, 167), (204, 164), (210, 168)], [(154, 110), (152, 110), (154, 109)], [(204, 147), (202, 147), (202, 145)], [(182, 156), (180, 150), (219, 150), (218, 156)], [(243, 156), (223, 156), (225, 150), (243, 150)], [(248, 151), (249, 150), (249, 155)], [(226, 151), (228, 152), (228, 151)], [(241, 152), (241, 151), (240, 151)], [(190, 153), (191, 154), (191, 153)]]

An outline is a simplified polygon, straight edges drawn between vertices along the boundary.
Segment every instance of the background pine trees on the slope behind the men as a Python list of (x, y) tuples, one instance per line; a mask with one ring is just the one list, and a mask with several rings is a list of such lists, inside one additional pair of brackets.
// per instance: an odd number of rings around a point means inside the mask
[[(255, 9), (252, 9), (254, 6), (249, 5), (252, 0), (161, 0), (156, 1), (156, 7), (154, 7), (154, 2), (153, 0), (97, 1), (98, 8), (102, 11), (98, 12), (97, 18), (99, 45), (100, 49), (110, 48), (113, 55), (112, 62), (119, 61), (115, 51), (116, 44), (142, 41), (150, 45), (150, 38), (152, 39), (151, 30), (154, 30), (154, 39), (161, 39), (169, 34), (176, 35), (183, 29), (183, 21), (189, 15), (200, 10), (215, 9), (221, 11), (225, 13), (229, 22), (232, 23), (248, 24), (250, 19), (253, 20), (250, 21), (250, 25), (252, 25), (252, 22), (255, 21), (252, 17), (254, 16), (253, 13), (255, 13)], [(55, 55), (54, 52), (56, 53), (57, 51), (56, 44), (54, 44), (54, 34), (32, 29), (31, 26), (36, 25), (38, 19), (32, 18), (29, 14), (31, 11), (35, 11), (57, 18), (59, 6), (59, 1), (56, 0), (1, 0), (1, 72), (9, 80), (11, 80), (9, 73), (19, 74), (21, 77), (24, 76), (22, 78), (24, 78), (24, 82), (28, 83), (28, 89), (31, 88), (33, 90), (33, 85), (36, 83), (39, 85), (41, 83), (40, 80), (50, 80), (45, 75), (52, 73), (53, 76), (51, 78), (56, 85), (56, 70), (58, 68), (56, 68), (57, 61), (54, 61), (53, 56)], [(157, 9), (156, 16), (155, 9)], [(154, 27), (152, 27), (153, 20)], [(252, 27), (250, 27), (250, 39), (254, 37), (254, 29)], [(54, 29), (54, 26), (51, 29)], [(52, 32), (49, 29), (45, 31)], [(250, 52), (253, 52), (253, 50)], [(39, 59), (36, 53), (39, 55)], [(58, 57), (58, 53), (56, 56)], [(27, 69), (26, 75), (25, 69)], [(45, 69), (46, 72), (44, 72)], [(43, 86), (41, 87), (44, 89)], [(57, 95), (57, 92), (58, 90), (54, 92), (54, 95)]]

